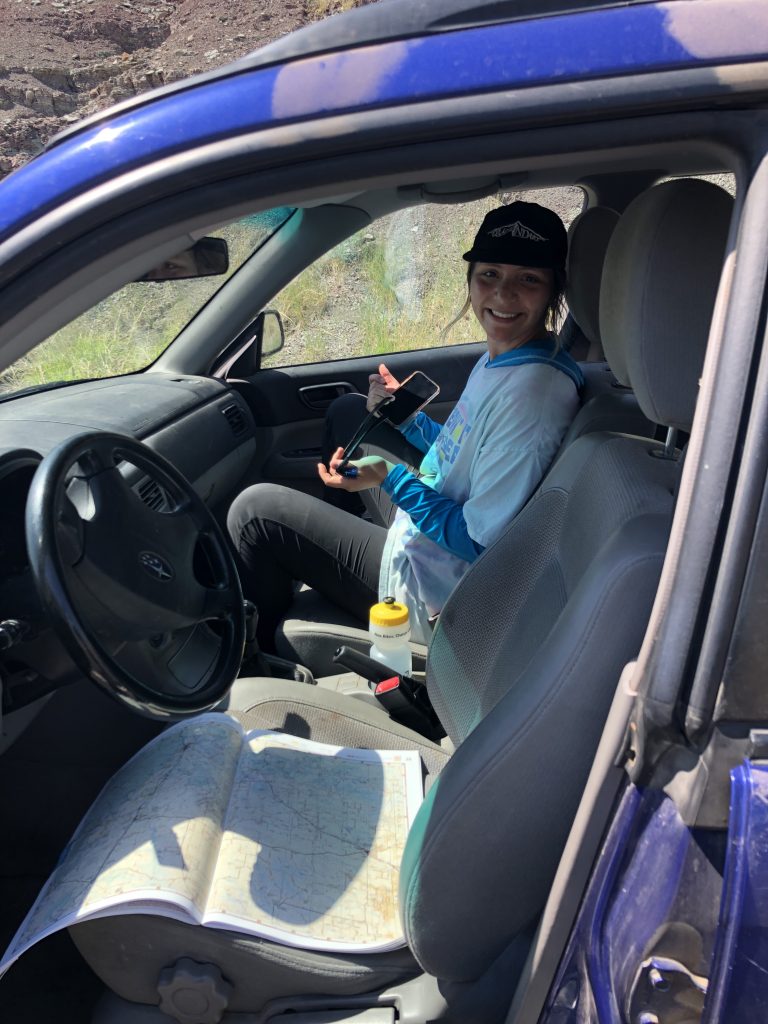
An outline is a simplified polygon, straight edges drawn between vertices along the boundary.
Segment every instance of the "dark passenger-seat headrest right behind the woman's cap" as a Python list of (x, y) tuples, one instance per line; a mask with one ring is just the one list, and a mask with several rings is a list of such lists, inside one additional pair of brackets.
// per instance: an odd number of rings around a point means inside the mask
[(603, 357), (600, 339), (600, 282), (608, 242), (618, 221), (615, 210), (593, 206), (568, 228), (567, 286), (565, 301), (571, 316), (590, 343), (587, 358)]

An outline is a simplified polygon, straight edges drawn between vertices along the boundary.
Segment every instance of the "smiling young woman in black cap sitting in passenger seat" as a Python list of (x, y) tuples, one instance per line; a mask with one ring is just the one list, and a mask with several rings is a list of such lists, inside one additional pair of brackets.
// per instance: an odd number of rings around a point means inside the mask
[[(414, 639), (428, 639), (470, 563), (532, 494), (578, 409), (581, 373), (552, 333), (566, 250), (562, 221), (545, 207), (512, 203), (488, 213), (464, 254), (468, 297), (459, 313), (471, 306), (487, 353), (444, 426), (420, 413), (400, 428), (424, 453), (418, 475), (378, 456), (342, 467), (342, 449), (328, 467), (318, 465), (328, 487), (382, 487), (397, 506), (388, 530), (274, 484), (256, 484), (236, 500), (227, 525), (265, 649), (294, 580), (360, 624), (372, 604), (392, 595), (409, 606)], [(382, 365), (371, 377), (369, 404), (396, 386)]]

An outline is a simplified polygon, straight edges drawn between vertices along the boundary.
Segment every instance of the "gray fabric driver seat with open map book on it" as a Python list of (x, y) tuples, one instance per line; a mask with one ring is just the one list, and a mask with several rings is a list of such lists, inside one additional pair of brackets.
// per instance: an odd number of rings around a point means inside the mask
[[(611, 366), (668, 426), (691, 424), (731, 209), (713, 184), (668, 182), (638, 197), (611, 239), (601, 303)], [(680, 467), (658, 447), (626, 434), (578, 438), (457, 586), (427, 670), (450, 757), (386, 713), (302, 683), (252, 680), (233, 712), (249, 728), (422, 753), (428, 792), (400, 870), (408, 947), (310, 952), (152, 915), (78, 924), (75, 944), (121, 997), (116, 1019), (168, 1021), (158, 979), (183, 957), (228, 982), (223, 1020), (232, 1022), (239, 1012), (262, 1020), (381, 1007), (395, 990), (407, 997), (408, 979), (429, 976), (441, 1009), (417, 1002), (401, 1014), (503, 1018), (650, 613)], [(189, 1016), (181, 1004), (173, 1013), (181, 1024), (222, 1019)]]

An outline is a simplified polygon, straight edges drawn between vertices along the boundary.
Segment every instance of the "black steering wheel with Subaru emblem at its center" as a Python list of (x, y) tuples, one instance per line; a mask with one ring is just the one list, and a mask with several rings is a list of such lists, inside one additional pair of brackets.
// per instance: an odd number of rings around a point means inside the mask
[[(145, 504), (139, 487), (154, 501)], [(245, 644), (234, 560), (213, 515), (166, 459), (93, 431), (41, 462), (27, 546), (43, 606), (81, 671), (150, 718), (210, 710)]]

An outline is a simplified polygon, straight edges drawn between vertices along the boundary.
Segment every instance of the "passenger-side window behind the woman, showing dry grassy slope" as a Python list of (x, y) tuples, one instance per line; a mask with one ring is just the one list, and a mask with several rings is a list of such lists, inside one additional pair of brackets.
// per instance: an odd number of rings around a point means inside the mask
[(430, 204), (381, 217), (307, 267), (271, 305), (286, 344), (268, 367), (481, 341), (466, 298), (462, 253), (485, 213), (522, 199), (551, 207), (565, 226), (584, 206), (575, 186), (505, 193), (462, 205)]

